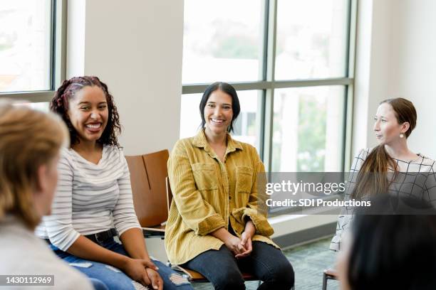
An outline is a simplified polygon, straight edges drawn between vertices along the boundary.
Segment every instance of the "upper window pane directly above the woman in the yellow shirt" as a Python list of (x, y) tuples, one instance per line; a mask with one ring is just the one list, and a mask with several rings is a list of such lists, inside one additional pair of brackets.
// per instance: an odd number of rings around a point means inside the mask
[(182, 82), (261, 80), (261, 0), (187, 0)]

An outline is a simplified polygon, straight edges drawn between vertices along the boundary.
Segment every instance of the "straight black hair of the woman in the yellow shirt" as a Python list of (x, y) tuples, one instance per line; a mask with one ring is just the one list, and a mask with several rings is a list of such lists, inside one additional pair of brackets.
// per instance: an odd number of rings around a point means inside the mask
[(214, 82), (212, 85), (209, 85), (209, 87), (207, 87), (204, 91), (202, 100), (199, 104), (200, 115), (202, 116), (201, 128), (204, 128), (204, 125), (206, 124), (206, 119), (204, 119), (204, 107), (206, 107), (207, 100), (209, 100), (210, 94), (212, 94), (212, 92), (216, 90), (221, 90), (222, 92), (225, 92), (227, 95), (232, 97), (233, 118), (232, 122), (230, 122), (230, 125), (227, 128), (227, 131), (233, 131), (233, 122), (238, 117), (239, 112), (241, 112), (241, 106), (239, 105), (239, 98), (236, 90), (234, 90), (234, 87), (232, 87), (232, 85), (229, 85), (227, 82)]

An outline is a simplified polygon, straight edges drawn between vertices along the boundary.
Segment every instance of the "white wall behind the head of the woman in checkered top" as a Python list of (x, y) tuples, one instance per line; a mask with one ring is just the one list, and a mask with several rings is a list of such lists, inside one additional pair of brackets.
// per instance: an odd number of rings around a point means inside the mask
[(405, 97), (415, 104), (410, 149), (436, 158), (436, 1), (361, 0), (358, 6), (353, 152), (376, 144), (378, 103)]

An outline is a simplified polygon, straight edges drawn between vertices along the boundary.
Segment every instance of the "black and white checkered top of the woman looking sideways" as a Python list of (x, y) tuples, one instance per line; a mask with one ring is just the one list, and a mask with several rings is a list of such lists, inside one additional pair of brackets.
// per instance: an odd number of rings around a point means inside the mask
[[(351, 166), (350, 176), (346, 186), (345, 200), (350, 199), (351, 193), (355, 188), (355, 182), (358, 177), (360, 168), (363, 162), (370, 154), (372, 149), (362, 149), (355, 156), (353, 165)], [(417, 198), (430, 201), (436, 208), (436, 163), (434, 160), (417, 154), (415, 160), (400, 160), (394, 159), (397, 163), (398, 176), (390, 183), (389, 193), (397, 195), (414, 195)], [(393, 168), (388, 169), (389, 172), (394, 172)], [(376, 174), (376, 173), (374, 173)], [(393, 176), (393, 175), (392, 175)], [(365, 198), (363, 198), (365, 199)], [(338, 251), (341, 249), (341, 240), (343, 234), (348, 230), (353, 219), (353, 208), (344, 207), (341, 210), (341, 215), (338, 217), (338, 224), (336, 225), (336, 234), (331, 240), (330, 249)]]

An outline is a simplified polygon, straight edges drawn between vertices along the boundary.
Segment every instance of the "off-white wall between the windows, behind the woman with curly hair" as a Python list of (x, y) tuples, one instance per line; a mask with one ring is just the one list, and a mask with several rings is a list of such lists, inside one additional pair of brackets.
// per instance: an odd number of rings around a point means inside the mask
[(114, 96), (125, 154), (179, 138), (183, 1), (68, 1), (67, 77), (97, 75)]

